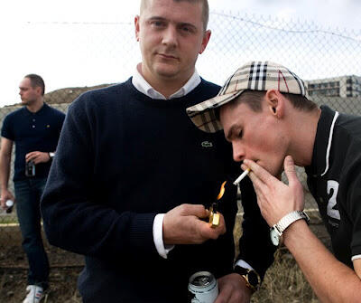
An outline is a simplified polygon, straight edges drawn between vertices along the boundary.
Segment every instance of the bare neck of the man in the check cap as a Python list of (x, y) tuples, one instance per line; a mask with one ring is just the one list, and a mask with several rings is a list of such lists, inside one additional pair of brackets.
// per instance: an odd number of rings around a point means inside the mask
[(289, 154), (297, 166), (311, 164), (320, 114), (320, 109), (315, 109), (311, 113), (297, 110), (297, 114), (292, 117), (292, 146)]

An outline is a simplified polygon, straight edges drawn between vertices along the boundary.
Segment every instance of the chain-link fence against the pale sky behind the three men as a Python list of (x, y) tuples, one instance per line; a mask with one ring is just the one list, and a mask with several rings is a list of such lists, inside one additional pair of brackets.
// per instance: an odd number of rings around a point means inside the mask
[[(46, 37), (32, 56), (51, 64), (52, 71), (42, 76), (47, 87), (57, 90), (49, 92), (45, 100), (64, 112), (81, 92), (126, 80), (141, 60), (131, 22), (19, 26), (24, 40), (33, 33)], [(204, 79), (223, 84), (245, 62), (279, 62), (307, 80), (310, 98), (318, 104), (361, 114), (360, 29), (325, 29), (318, 24), (234, 12), (212, 12), (208, 27), (212, 30), (211, 39), (197, 63)], [(55, 53), (60, 58), (54, 57)], [(18, 107), (0, 109), (1, 125), (5, 115)], [(0, 211), (0, 234), (6, 234), (1, 238), (0, 251), (12, 241), (8, 229), (11, 224), (16, 224), (16, 214)]]

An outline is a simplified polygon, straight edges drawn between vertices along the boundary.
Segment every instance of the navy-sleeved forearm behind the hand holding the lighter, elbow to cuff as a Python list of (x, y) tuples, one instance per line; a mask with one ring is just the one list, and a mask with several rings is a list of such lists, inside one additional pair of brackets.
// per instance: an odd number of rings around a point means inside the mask
[[(49, 190), (47, 190), (49, 189)], [(97, 258), (139, 258), (158, 255), (153, 244), (153, 213), (117, 213), (86, 198), (65, 198), (45, 189), (44, 230), (52, 245)], [(64, 193), (64, 189), (60, 190)]]

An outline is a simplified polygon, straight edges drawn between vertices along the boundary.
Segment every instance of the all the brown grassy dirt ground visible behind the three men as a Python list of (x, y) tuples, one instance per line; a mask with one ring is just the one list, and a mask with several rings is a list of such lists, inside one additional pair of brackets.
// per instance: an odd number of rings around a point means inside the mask
[[(311, 228), (325, 243), (329, 237), (317, 213), (311, 217)], [(240, 236), (241, 216), (237, 217), (235, 239)], [(83, 267), (83, 258), (45, 243), (51, 263), (50, 289), (44, 303), (79, 303), (81, 298), (76, 284)], [(27, 261), (21, 247), (19, 227), (0, 227), (0, 302), (22, 302), (26, 288)], [(254, 303), (319, 302), (304, 279), (301, 270), (285, 249), (275, 258), (267, 271), (262, 288), (252, 299)], [(107, 302), (105, 302), (107, 303)]]

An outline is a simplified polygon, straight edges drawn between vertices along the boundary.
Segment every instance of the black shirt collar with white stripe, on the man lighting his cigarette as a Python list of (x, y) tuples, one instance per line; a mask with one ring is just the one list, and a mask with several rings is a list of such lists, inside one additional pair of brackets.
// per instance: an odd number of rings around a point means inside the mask
[(317, 125), (315, 144), (312, 152), (312, 162), (306, 167), (306, 173), (313, 176), (325, 175), (329, 170), (329, 152), (332, 145), (333, 131), (338, 111), (321, 106), (321, 116)]

